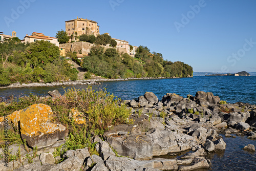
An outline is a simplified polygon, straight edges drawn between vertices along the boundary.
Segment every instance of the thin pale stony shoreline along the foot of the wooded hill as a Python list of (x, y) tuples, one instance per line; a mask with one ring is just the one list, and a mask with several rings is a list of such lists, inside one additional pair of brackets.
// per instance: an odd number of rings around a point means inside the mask
[[(170, 78), (180, 78), (180, 77), (170, 77)], [(191, 77), (190, 77), (191, 78)], [(93, 84), (100, 84), (101, 81), (127, 81), (127, 80), (137, 80), (137, 79), (169, 79), (166, 77), (143, 77), (143, 78), (118, 78), (118, 79), (109, 79), (109, 78), (102, 78), (96, 77), (94, 79), (82, 79), (76, 81), (59, 81), (59, 82), (51, 82), (51, 83), (44, 83), (44, 82), (32, 82), (32, 83), (12, 83), (10, 86), (0, 87), (0, 89), (4, 88), (24, 88), (24, 87), (47, 87), (47, 86), (66, 86), (66, 85), (93, 85)]]

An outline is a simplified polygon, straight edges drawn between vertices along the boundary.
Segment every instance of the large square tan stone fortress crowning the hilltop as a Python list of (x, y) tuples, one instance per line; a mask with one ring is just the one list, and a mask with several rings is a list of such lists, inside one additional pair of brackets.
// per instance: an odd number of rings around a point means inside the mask
[[(76, 18), (72, 20), (68, 20), (66, 23), (66, 32), (70, 36), (70, 40), (74, 40), (74, 36), (80, 36), (82, 34), (94, 34), (97, 36), (99, 34), (99, 26), (97, 22), (94, 22), (90, 19)], [(77, 33), (77, 35), (76, 35)]]

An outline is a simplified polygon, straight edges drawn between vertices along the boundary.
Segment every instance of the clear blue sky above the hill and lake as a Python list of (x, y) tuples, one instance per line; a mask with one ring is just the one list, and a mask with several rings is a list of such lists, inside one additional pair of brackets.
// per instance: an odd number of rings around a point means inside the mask
[(98, 22), (100, 34), (147, 46), (195, 72), (256, 72), (254, 0), (5, 0), (1, 7), (0, 31), (15, 30), (20, 39), (55, 36), (78, 16)]

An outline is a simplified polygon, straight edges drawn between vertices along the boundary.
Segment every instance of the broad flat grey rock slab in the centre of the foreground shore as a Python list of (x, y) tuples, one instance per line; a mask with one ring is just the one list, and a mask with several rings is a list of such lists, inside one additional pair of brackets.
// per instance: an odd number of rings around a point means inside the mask
[(198, 144), (197, 139), (189, 135), (159, 129), (152, 129), (146, 134), (116, 137), (105, 133), (104, 136), (119, 155), (137, 160), (186, 151)]

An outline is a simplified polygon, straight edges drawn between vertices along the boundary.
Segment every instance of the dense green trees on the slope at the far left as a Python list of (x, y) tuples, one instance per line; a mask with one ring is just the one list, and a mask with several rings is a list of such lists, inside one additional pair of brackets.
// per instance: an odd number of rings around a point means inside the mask
[(0, 44), (0, 86), (14, 82), (45, 83), (76, 80), (78, 71), (59, 55), (59, 48), (48, 41), (23, 44), (12, 39)]

